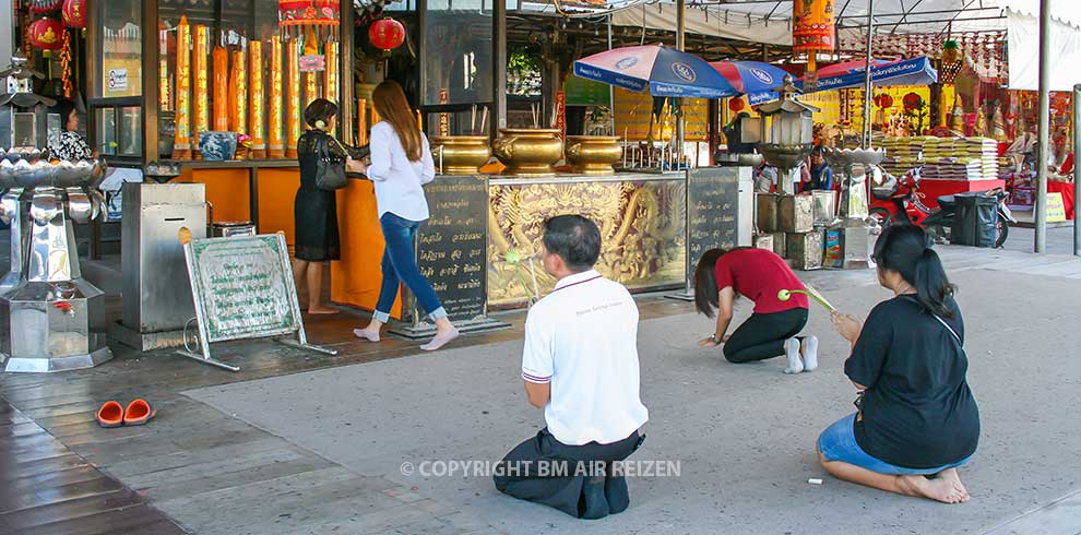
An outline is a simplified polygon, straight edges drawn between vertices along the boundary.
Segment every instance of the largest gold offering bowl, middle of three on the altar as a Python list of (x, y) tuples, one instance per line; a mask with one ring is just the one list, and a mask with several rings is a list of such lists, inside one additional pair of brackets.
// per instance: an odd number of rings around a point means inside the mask
[(504, 175), (549, 177), (553, 164), (563, 157), (557, 129), (502, 128), (491, 152), (507, 166)]

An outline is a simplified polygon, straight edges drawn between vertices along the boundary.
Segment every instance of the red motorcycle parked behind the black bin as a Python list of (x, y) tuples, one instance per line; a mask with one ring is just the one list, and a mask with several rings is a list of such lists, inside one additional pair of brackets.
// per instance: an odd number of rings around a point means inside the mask
[[(911, 223), (926, 228), (936, 239), (948, 240), (954, 218), (953, 195), (938, 198), (939, 209), (924, 204), (920, 201), (925, 195), (919, 191), (919, 171), (920, 168), (915, 167), (901, 180), (886, 175), (883, 183), (871, 182), (870, 216), (883, 227)], [(998, 201), (995, 247), (1000, 248), (1010, 235), (1010, 223), (1017, 223), (1017, 219), (1006, 205), (1008, 195), (1002, 188), (995, 188), (984, 194), (995, 197)]]

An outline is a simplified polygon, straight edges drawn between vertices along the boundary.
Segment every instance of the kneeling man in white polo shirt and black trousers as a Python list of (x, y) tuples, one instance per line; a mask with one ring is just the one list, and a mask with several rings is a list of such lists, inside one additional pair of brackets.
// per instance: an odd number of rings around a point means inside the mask
[(544, 229), (544, 268), (559, 282), (525, 320), (522, 379), (547, 427), (511, 450), (494, 479), (515, 498), (601, 519), (630, 504), (618, 462), (641, 444), (649, 419), (639, 397), (638, 307), (593, 269), (593, 222), (561, 215)]

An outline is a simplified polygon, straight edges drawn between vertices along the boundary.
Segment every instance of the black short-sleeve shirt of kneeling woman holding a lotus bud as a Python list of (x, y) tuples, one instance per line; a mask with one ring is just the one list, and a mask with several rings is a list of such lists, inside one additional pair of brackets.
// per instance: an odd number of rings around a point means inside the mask
[[(964, 340), (952, 300), (946, 322)], [(934, 468), (976, 451), (979, 409), (969, 390), (964, 352), (935, 316), (911, 296), (879, 304), (867, 317), (844, 371), (867, 387), (856, 442), (870, 455), (906, 468)]]

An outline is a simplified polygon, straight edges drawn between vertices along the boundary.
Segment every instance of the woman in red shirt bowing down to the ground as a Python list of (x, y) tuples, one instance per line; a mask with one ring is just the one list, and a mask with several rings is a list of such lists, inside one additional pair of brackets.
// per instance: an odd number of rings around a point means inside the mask
[[(783, 289), (806, 289), (784, 259), (765, 249), (739, 247), (711, 249), (702, 254), (694, 270), (694, 305), (712, 318), (716, 330), (699, 342), (703, 347), (724, 344), (730, 362), (750, 362), (785, 355), (785, 373), (818, 368), (818, 338), (797, 337), (807, 325), (807, 296), (792, 294), (782, 301)], [(727, 335), (736, 296), (755, 301), (755, 313)]]

